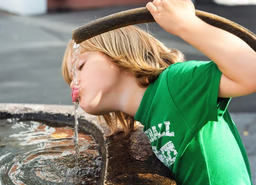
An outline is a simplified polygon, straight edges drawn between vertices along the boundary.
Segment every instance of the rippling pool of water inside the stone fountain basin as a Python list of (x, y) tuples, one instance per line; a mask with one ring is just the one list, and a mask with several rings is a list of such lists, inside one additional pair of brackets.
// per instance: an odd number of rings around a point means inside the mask
[(66, 125), (0, 120), (0, 185), (96, 185), (101, 171), (98, 145), (79, 131), (79, 168), (73, 128)]

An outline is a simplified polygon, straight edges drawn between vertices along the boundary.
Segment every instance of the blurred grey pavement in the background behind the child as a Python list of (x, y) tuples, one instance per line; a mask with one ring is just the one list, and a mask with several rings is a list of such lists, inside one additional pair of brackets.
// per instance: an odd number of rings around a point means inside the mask
[[(99, 17), (142, 6), (19, 17), (0, 12), (0, 102), (72, 105), (71, 90), (61, 77), (61, 61), (72, 30)], [(256, 6), (196, 5), (196, 9), (225, 17), (256, 33)], [(143, 26), (146, 28), (146, 26)], [(187, 60), (209, 60), (156, 23), (148, 29)], [(233, 98), (229, 111), (239, 128), (256, 183), (256, 94)]]

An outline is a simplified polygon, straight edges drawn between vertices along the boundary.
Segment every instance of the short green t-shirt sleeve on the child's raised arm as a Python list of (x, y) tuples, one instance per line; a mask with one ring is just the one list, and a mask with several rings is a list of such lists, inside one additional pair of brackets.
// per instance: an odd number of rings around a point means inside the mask
[(167, 85), (178, 111), (193, 131), (206, 122), (218, 121), (230, 98), (219, 98), (218, 66), (210, 62), (187, 61), (169, 67)]

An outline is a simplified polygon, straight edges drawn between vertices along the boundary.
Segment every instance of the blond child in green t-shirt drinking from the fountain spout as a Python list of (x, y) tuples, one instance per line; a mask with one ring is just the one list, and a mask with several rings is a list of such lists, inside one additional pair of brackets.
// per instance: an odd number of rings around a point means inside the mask
[(230, 97), (256, 92), (256, 52), (233, 34), (195, 16), (190, 0), (147, 4), (156, 22), (212, 61), (184, 61), (183, 54), (135, 26), (80, 44), (78, 85), (70, 74), (69, 43), (64, 80), (81, 108), (102, 116), (125, 136), (144, 125), (156, 156), (178, 185), (251, 185), (250, 166), (227, 105)]

